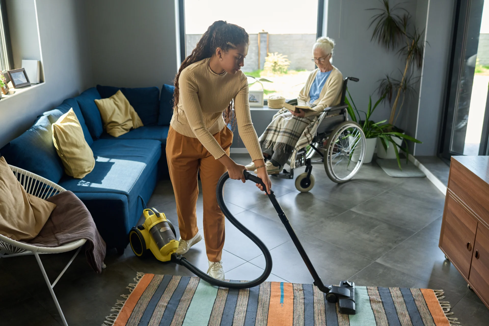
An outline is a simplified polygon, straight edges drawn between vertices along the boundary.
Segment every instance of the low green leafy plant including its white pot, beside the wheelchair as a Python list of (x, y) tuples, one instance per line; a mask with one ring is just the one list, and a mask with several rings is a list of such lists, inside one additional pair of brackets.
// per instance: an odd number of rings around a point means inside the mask
[[(397, 159), (399, 169), (402, 171), (398, 147), (401, 151), (405, 153), (406, 162), (409, 155), (409, 148), (407, 146), (402, 147), (401, 144), (395, 142), (393, 138), (397, 137), (399, 139), (410, 140), (414, 143), (421, 143), (421, 141), (411, 136), (408, 136), (405, 133), (393, 131), (393, 126), (389, 123), (385, 123), (387, 120), (382, 120), (377, 123), (374, 123), (373, 121), (370, 120), (370, 117), (372, 116), (372, 113), (374, 113), (374, 110), (377, 108), (379, 103), (384, 100), (384, 97), (386, 96), (385, 94), (377, 100), (377, 102), (374, 104), (374, 107), (372, 107), (372, 96), (369, 96), (369, 102), (368, 102), (368, 107), (366, 112), (363, 110), (356, 109), (356, 105), (355, 102), (353, 101), (352, 94), (350, 94), (350, 91), (348, 91), (348, 96), (350, 97), (350, 99), (345, 97), (345, 103), (348, 105), (348, 109), (347, 109), (348, 114), (350, 115), (353, 121), (360, 124), (363, 132), (365, 133), (366, 148), (365, 148), (365, 158), (363, 159), (363, 163), (370, 163), (372, 161), (372, 156), (374, 155), (376, 144), (378, 144), (377, 139), (380, 139), (381, 146), (378, 146), (377, 152), (379, 151), (380, 147), (382, 148), (382, 150), (385, 151), (387, 151), (389, 147), (393, 147), (395, 158)], [(361, 120), (360, 112), (362, 112), (365, 115), (365, 120), (363, 121)], [(389, 146), (389, 143), (395, 145)], [(355, 159), (355, 153), (353, 153), (351, 157), (351, 160), (355, 162), (354, 159)]]

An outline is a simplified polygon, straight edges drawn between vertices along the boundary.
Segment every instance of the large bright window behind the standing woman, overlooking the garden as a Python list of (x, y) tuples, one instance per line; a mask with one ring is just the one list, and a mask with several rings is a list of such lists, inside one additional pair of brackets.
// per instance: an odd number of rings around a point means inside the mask
[[(185, 0), (185, 53), (190, 55), (209, 25), (224, 20), (249, 34), (243, 72), (261, 77), (264, 98), (296, 98), (314, 69), (312, 45), (316, 40), (318, 0)], [(249, 81), (253, 81), (252, 78)], [(254, 83), (250, 90), (260, 90)]]

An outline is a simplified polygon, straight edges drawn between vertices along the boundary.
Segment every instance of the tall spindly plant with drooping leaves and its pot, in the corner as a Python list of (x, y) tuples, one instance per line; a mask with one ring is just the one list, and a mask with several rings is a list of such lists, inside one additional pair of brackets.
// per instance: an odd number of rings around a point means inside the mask
[[(383, 97), (382, 102), (387, 100), (391, 105), (388, 122), (391, 131), (402, 134), (403, 130), (395, 127), (396, 122), (404, 100), (416, 92), (415, 84), (421, 77), (419, 71), (422, 67), (424, 43), (426, 41), (423, 38), (424, 30), (420, 32), (416, 26), (410, 26), (412, 17), (406, 9), (399, 7), (399, 4), (391, 6), (389, 0), (381, 0), (380, 2), (382, 3), (381, 8), (367, 9), (376, 11), (376, 15), (372, 16), (369, 25), (369, 28), (374, 27), (371, 41), (376, 40), (387, 52), (397, 50), (396, 55), (404, 60), (404, 71), (399, 70), (399, 73), (386, 74), (385, 78), (379, 80), (377, 89), (379, 96)], [(413, 67), (411, 67), (412, 64), (414, 64)], [(401, 138), (391, 137), (394, 146), (388, 146), (386, 151), (380, 149), (379, 146), (378, 157), (396, 158), (394, 150), (401, 147)]]

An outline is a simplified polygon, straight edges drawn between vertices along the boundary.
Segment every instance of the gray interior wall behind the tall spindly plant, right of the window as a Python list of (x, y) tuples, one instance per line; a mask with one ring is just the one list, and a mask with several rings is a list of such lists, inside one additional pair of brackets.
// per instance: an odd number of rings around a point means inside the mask
[[(391, 0), (391, 5), (402, 3), (401, 7), (416, 19), (416, 1), (404, 2)], [(373, 29), (367, 29), (370, 18), (375, 14), (366, 11), (368, 8), (378, 8), (378, 0), (329, 0), (327, 36), (334, 39), (333, 65), (343, 74), (343, 77), (354, 76), (360, 79), (358, 83), (348, 84), (348, 88), (358, 109), (366, 110), (369, 95), (373, 101), (377, 101), (376, 88), (378, 80), (398, 69), (404, 71), (404, 62), (399, 59), (396, 52), (386, 53), (375, 42), (371, 42)], [(409, 103), (405, 103), (397, 125), (407, 129), (408, 122), (405, 119), (406, 112), (411, 109)], [(388, 119), (390, 105), (379, 105), (372, 119), (380, 121)]]

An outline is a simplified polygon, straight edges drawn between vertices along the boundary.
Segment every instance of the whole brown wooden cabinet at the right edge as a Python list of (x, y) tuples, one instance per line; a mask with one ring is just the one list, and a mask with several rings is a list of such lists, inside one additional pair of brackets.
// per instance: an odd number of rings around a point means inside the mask
[(489, 308), (489, 156), (452, 156), (439, 246)]

